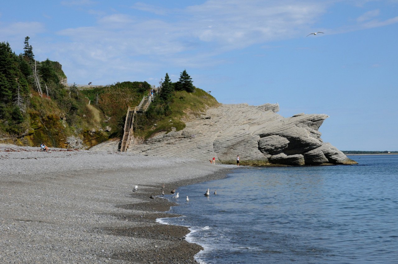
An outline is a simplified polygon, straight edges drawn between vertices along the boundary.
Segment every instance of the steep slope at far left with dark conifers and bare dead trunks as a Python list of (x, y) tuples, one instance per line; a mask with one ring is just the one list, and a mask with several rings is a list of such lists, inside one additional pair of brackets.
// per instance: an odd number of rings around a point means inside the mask
[[(8, 43), (0, 43), (0, 142), (66, 148), (68, 136), (83, 138), (88, 146), (106, 140), (103, 131), (88, 133), (103, 127), (103, 114), (88, 107), (88, 99), (76, 87), (68, 90), (60, 83), (66, 76), (58, 62), (35, 62), (28, 41), (26, 37), (20, 55)], [(33, 78), (35, 63), (42, 95)], [(91, 118), (94, 112), (96, 119)]]

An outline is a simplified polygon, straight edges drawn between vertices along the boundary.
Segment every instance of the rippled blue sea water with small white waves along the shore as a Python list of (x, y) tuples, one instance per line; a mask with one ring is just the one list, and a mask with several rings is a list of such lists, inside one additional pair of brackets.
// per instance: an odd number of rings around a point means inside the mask
[(398, 155), (351, 158), (360, 164), (240, 167), (179, 188), (168, 198), (184, 216), (158, 221), (190, 227), (199, 263), (398, 263)]

